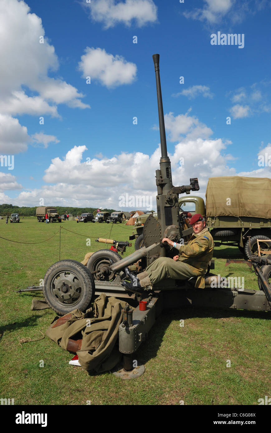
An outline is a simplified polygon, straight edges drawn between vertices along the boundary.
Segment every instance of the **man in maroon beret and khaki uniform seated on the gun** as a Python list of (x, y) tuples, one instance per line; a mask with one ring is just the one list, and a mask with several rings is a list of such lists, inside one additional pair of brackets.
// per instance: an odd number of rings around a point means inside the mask
[(178, 255), (175, 255), (173, 259), (159, 257), (138, 275), (133, 274), (129, 268), (125, 268), (131, 283), (123, 281), (123, 287), (141, 294), (145, 287), (152, 286), (164, 278), (186, 280), (191, 277), (198, 277), (195, 287), (204, 288), (203, 275), (213, 257), (213, 238), (200, 213), (192, 216), (190, 225), (193, 227), (194, 234), (190, 237), (187, 245), (177, 244), (168, 238), (162, 239), (162, 242), (167, 242), (168, 245), (179, 250)]

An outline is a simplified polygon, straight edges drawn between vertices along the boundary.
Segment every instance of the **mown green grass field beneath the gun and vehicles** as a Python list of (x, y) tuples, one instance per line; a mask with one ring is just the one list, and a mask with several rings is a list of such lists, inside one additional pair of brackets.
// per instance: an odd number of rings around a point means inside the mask
[[(19, 224), (0, 220), (0, 236), (17, 242), (40, 242), (61, 229), (60, 259), (81, 262), (89, 251), (103, 249), (97, 237), (128, 240), (134, 227), (65, 221), (38, 223), (25, 218)], [(111, 233), (110, 230), (112, 229)], [(86, 246), (87, 238), (91, 246)], [(133, 241), (134, 243), (134, 241)], [(96, 375), (71, 366), (72, 355), (46, 336), (19, 344), (19, 339), (39, 338), (55, 312), (31, 311), (40, 292), (17, 294), (13, 290), (39, 285), (47, 269), (59, 260), (59, 233), (47, 242), (24, 244), (0, 238), (0, 397), (14, 404), (258, 404), (271, 397), (271, 314), (259, 311), (179, 308), (161, 314), (138, 352), (145, 374), (123, 381), (110, 373)], [(108, 246), (109, 248), (109, 246)], [(134, 251), (127, 249), (125, 255)], [(216, 248), (215, 273), (244, 276), (245, 288), (258, 290), (257, 279), (235, 247)], [(184, 327), (180, 320), (184, 319)], [(40, 367), (41, 360), (44, 367)], [(231, 363), (230, 367), (229, 360)]]

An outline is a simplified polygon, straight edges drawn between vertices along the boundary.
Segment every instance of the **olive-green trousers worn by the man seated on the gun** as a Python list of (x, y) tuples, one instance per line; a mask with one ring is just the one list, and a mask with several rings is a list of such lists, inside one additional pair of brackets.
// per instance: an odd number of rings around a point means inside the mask
[(202, 272), (193, 266), (187, 265), (187, 263), (175, 262), (170, 257), (159, 257), (146, 268), (146, 271), (138, 274), (138, 278), (141, 287), (146, 287), (150, 282), (151, 284), (155, 284), (164, 278), (186, 280), (187, 278), (198, 277), (199, 275), (202, 275)]

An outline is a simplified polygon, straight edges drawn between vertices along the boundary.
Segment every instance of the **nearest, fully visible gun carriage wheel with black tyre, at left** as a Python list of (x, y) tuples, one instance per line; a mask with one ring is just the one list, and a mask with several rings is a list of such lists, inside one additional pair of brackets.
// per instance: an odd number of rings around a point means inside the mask
[(94, 293), (95, 283), (90, 271), (76, 260), (56, 262), (45, 274), (45, 300), (61, 316), (76, 308), (87, 310)]

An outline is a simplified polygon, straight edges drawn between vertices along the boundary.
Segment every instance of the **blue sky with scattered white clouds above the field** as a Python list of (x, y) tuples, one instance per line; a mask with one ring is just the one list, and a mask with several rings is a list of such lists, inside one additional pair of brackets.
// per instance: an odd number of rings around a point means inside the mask
[[(270, 177), (270, 16), (268, 1), (2, 0), (0, 155), (14, 168), (0, 167), (0, 203), (118, 209), (128, 193), (155, 208), (155, 53), (174, 185), (198, 177), (204, 196), (209, 177)], [(218, 32), (243, 48), (211, 45)]]

